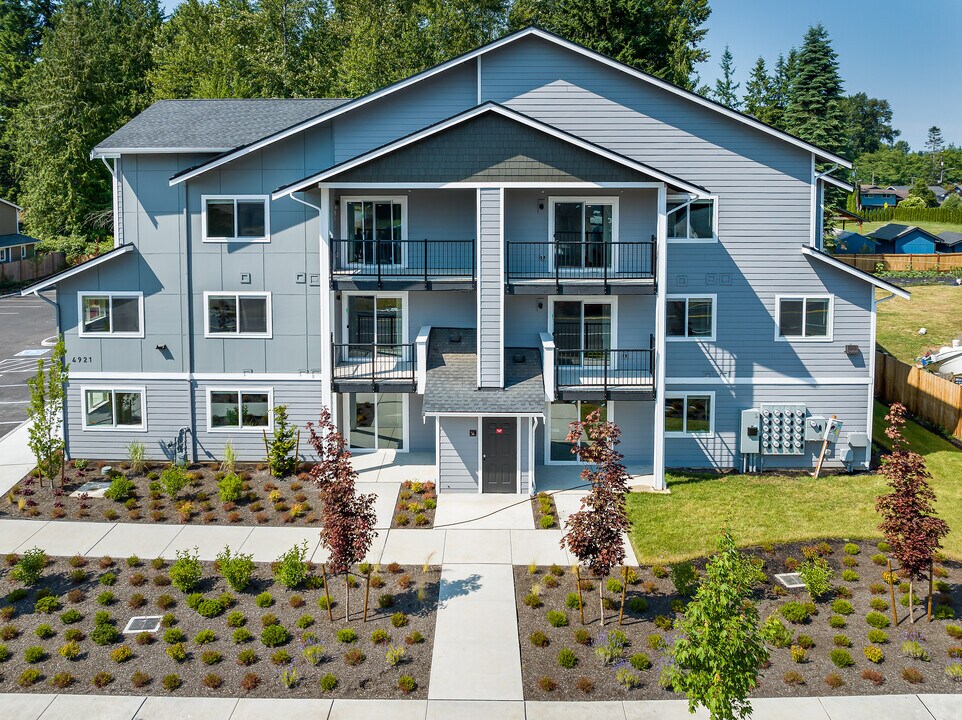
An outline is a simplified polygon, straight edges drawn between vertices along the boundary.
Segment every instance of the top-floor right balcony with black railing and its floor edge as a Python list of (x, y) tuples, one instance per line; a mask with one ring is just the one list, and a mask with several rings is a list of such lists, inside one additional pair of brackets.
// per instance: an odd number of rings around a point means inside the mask
[(554, 240), (512, 240), (505, 247), (509, 293), (654, 294), (655, 239), (609, 240), (556, 232)]

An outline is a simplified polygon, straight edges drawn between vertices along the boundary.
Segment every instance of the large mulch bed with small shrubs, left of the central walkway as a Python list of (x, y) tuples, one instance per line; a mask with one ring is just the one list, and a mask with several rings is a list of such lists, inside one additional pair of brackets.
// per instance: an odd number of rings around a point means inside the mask
[[(74, 562), (80, 560), (75, 559)], [(343, 610), (344, 576), (328, 577), (330, 592), (335, 600), (332, 623), (328, 620), (327, 611), (318, 605), (318, 598), (323, 598), (323, 590), (313, 589), (315, 584), (320, 586), (319, 578), (309, 578), (303, 588), (287, 590), (283, 585), (273, 582), (270, 566), (258, 565), (255, 581), (244, 592), (237, 593), (230, 590), (213, 564), (204, 563), (205, 579), (200, 588), (204, 596), (217, 598), (221, 593), (229, 592), (234, 598), (233, 606), (219, 616), (208, 619), (188, 607), (184, 593), (157, 584), (166, 580), (170, 563), (155, 562), (157, 567), (150, 562), (144, 562), (139, 567), (128, 567), (126, 561), (117, 560), (112, 566), (105, 567), (106, 561), (101, 563), (90, 559), (84, 567), (76, 568), (68, 558), (53, 558), (40, 583), (29, 588), (26, 597), (15, 602), (11, 602), (9, 590), (19, 585), (10, 577), (9, 566), (0, 571), (0, 587), (7, 592), (6, 597), (0, 600), (0, 607), (15, 609), (13, 612), (5, 609), (4, 614), (10, 616), (0, 620), (0, 636), (6, 638), (0, 640), (0, 644), (5, 645), (8, 651), (0, 651), (0, 656), (8, 654), (6, 659), (0, 661), (0, 692), (146, 693), (191, 697), (427, 697), (440, 578), (437, 568), (428, 568), (427, 571), (420, 567), (397, 565), (376, 568), (372, 577), (379, 577), (384, 585), (380, 589), (371, 588), (367, 622), (361, 620), (364, 579), (359, 578), (358, 588), (351, 592), (351, 620), (348, 622)], [(69, 574), (76, 569), (86, 571), (87, 579), (79, 583), (72, 582)], [(320, 572), (319, 568), (316, 572)], [(116, 582), (109, 587), (100, 584), (107, 573), (116, 576)], [(132, 582), (140, 582), (140, 576), (145, 582), (132, 585)], [(35, 612), (38, 590), (55, 593), (59, 597), (60, 608), (49, 615)], [(68, 592), (77, 590), (79, 593), (68, 597)], [(99, 604), (97, 600), (104, 591), (114, 595), (114, 601), (107, 606)], [(269, 592), (273, 597), (273, 603), (268, 607), (255, 604), (255, 597), (263, 592)], [(129, 604), (135, 593), (143, 595), (145, 603), (138, 609), (131, 609)], [(386, 594), (393, 595), (393, 604), (381, 608), (378, 598)], [(160, 609), (157, 599), (163, 595), (171, 596), (175, 604)], [(79, 611), (83, 617), (79, 622), (65, 624), (60, 616), (72, 609)], [(91, 635), (95, 627), (94, 618), (99, 611), (110, 613), (116, 621), (118, 632), (134, 615), (172, 614), (175, 619), (172, 627), (183, 632), (187, 659), (177, 662), (168, 656), (166, 651), (171, 645), (165, 641), (163, 628), (151, 636), (152, 642), (149, 644), (139, 644), (135, 635), (124, 635), (105, 646), (96, 644)], [(233, 641), (235, 628), (228, 625), (228, 617), (234, 612), (246, 618), (244, 627), (253, 635), (246, 642)], [(399, 612), (404, 613), (407, 619), (402, 627), (396, 627), (392, 622), (392, 616)], [(290, 634), (290, 640), (279, 647), (267, 647), (261, 640), (262, 618), (268, 614), (276, 616), (277, 622)], [(50, 625), (54, 635), (41, 639), (35, 631), (44, 623)], [(356, 632), (355, 642), (344, 643), (336, 639), (337, 631), (345, 628)], [(65, 634), (76, 630), (85, 636), (79, 641), (81, 653), (77, 659), (67, 660), (61, 657), (58, 649), (67, 642)], [(203, 645), (197, 644), (195, 638), (202, 630), (213, 631), (216, 639)], [(375, 630), (386, 632), (389, 640), (375, 643), (371, 637)], [(416, 639), (412, 638), (414, 632), (420, 633), (423, 640), (409, 642)], [(305, 648), (311, 644), (323, 648), (323, 659), (317, 665), (304, 654)], [(25, 650), (32, 646), (41, 647), (46, 653), (46, 657), (35, 664), (27, 663), (24, 657)], [(132, 650), (132, 656), (117, 662), (112, 653), (121, 647)], [(405, 657), (396, 667), (390, 667), (387, 662), (389, 648), (404, 650)], [(279, 650), (289, 655), (290, 659), (274, 657)], [(352, 650), (359, 650), (365, 656), (353, 667), (345, 659), (345, 654)], [(219, 653), (221, 660), (205, 664), (202, 654), (212, 651)], [(239, 654), (244, 651), (253, 651), (256, 655), (256, 660), (249, 666), (238, 662)], [(30, 669), (38, 670), (41, 679), (35, 684), (23, 686), (19, 682), (21, 675)], [(282, 679), (285, 671), (288, 679), (292, 671), (296, 671), (297, 681), (291, 688)], [(93, 679), (100, 672), (109, 673), (111, 679), (103, 687), (94, 687)], [(144, 673), (150, 678), (146, 685), (139, 687), (133, 683), (135, 672)], [(63, 688), (55, 686), (53, 678), (60, 673), (69, 673), (74, 681)], [(256, 676), (256, 685), (251, 687), (254, 683), (249, 680), (245, 687), (244, 678), (250, 673)], [(180, 680), (181, 684), (176, 689), (167, 689), (164, 685), (164, 678), (170, 674), (176, 674)], [(328, 674), (336, 678), (337, 684), (333, 691), (325, 692), (320, 687), (320, 679)], [(211, 678), (209, 684), (205, 684), (204, 679), (209, 675), (216, 678)], [(401, 676), (413, 678), (416, 689), (410, 693), (398, 689)], [(213, 687), (218, 684), (218, 679), (219, 686)]]

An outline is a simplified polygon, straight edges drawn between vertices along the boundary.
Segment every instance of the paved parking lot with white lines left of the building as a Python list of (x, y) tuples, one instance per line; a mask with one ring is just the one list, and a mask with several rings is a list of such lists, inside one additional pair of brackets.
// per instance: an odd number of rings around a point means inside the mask
[(27, 379), (38, 357), (49, 357), (42, 345), (56, 333), (53, 306), (35, 297), (0, 298), (0, 437), (27, 419)]

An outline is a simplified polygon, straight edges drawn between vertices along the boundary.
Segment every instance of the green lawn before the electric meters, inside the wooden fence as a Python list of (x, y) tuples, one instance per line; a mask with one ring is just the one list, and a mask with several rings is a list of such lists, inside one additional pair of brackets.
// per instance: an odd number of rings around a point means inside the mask
[[(886, 407), (876, 403), (875, 437), (884, 441)], [(906, 436), (925, 456), (939, 512), (953, 529), (946, 553), (962, 558), (962, 451), (914, 423)], [(669, 495), (632, 493), (630, 537), (642, 563), (674, 562), (706, 555), (725, 526), (741, 545), (815, 538), (878, 536), (878, 475), (809, 477), (669, 475)]]

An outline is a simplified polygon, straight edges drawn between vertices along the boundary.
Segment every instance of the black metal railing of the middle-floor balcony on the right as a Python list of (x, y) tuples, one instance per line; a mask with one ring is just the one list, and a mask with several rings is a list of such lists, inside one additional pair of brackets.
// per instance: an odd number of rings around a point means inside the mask
[(555, 349), (556, 388), (653, 390), (655, 338), (645, 349)]

